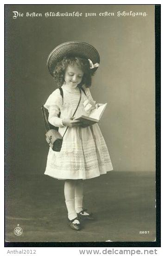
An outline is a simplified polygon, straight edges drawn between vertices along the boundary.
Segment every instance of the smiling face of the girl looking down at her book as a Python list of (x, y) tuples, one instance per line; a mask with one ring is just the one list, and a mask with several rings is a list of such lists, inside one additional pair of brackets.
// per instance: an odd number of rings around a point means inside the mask
[(73, 66), (69, 65), (66, 68), (64, 80), (70, 87), (76, 88), (76, 86), (81, 83), (83, 74), (83, 71), (77, 64), (74, 64)]

